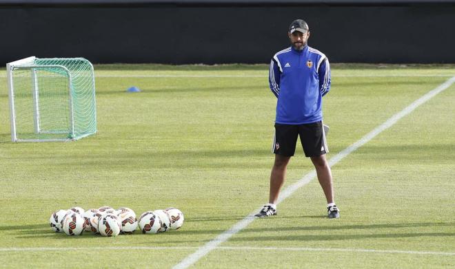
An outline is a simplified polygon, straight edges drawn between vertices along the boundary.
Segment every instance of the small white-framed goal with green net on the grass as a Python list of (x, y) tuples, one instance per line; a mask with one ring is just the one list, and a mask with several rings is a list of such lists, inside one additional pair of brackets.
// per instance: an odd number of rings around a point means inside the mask
[(36, 58), (6, 65), (11, 140), (79, 140), (97, 132), (93, 65), (85, 58)]

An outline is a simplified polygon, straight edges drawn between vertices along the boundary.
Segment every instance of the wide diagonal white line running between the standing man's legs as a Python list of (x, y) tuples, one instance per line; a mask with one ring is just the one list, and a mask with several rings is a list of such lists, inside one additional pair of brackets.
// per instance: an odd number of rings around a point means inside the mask
[[(394, 116), (390, 117), (388, 120), (386, 120), (382, 125), (379, 125), (373, 131), (370, 131), (370, 133), (367, 133), (366, 136), (363, 136), (360, 140), (357, 142), (354, 142), (354, 144), (350, 145), (346, 149), (343, 149), (343, 151), (339, 152), (338, 154), (334, 155), (334, 157), (330, 158), (329, 160), (329, 165), (330, 167), (334, 166), (343, 158), (345, 158), (347, 155), (352, 153), (353, 151), (356, 151), (359, 147), (362, 147), (365, 143), (369, 142), (372, 140), (374, 137), (376, 137), (379, 133), (385, 131), (392, 125), (394, 125), (398, 120), (406, 116), (407, 114), (410, 114), (414, 109), (416, 109), (418, 106), (422, 105), (423, 103), (427, 102), (427, 100), (433, 98), (436, 96), (436, 94), (439, 94), (440, 92), (443, 92), (443, 90), (447, 89), (455, 83), (455, 76), (452, 78), (449, 78), (446, 80), (443, 84), (439, 85), (438, 87), (432, 89), (431, 91), (427, 92), (427, 94), (423, 95), (421, 98), (418, 98), (415, 100), (411, 105), (408, 105), (403, 109), (402, 111), (398, 112)], [(313, 170), (310, 173), (307, 173), (304, 175), (299, 181), (296, 183), (288, 186), (285, 190), (281, 192), (281, 195), (279, 197), (279, 200), (276, 204), (279, 204), (283, 202), (287, 197), (290, 197), (292, 194), (294, 194), (295, 191), (297, 191), (299, 188), (302, 186), (305, 186), (310, 182), (314, 177), (316, 176), (316, 171)], [(199, 261), (202, 257), (208, 254), (208, 252), (214, 250), (215, 248), (219, 247), (219, 244), (222, 244), (225, 241), (228, 241), (232, 235), (235, 235), (236, 233), (239, 233), (243, 228), (248, 226), (250, 223), (253, 222), (254, 220), (254, 214), (257, 213), (257, 211), (253, 211), (250, 213), (250, 215), (247, 215), (244, 219), (242, 219), (240, 222), (237, 222), (232, 226), (229, 230), (225, 230), (225, 232), (221, 233), (208, 243), (206, 243), (204, 246), (201, 246), (196, 252), (192, 253), (188, 257), (185, 257), (180, 263), (177, 263), (176, 266), (174, 266), (174, 269), (177, 268), (188, 268), (189, 266), (192, 266), (192, 264), (196, 263), (196, 261)]]

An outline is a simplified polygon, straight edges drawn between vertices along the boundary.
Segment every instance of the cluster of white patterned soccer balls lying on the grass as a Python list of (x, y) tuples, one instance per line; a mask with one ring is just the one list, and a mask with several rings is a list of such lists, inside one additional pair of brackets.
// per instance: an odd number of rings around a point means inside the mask
[(111, 237), (133, 233), (138, 226), (142, 233), (163, 233), (179, 229), (183, 225), (183, 213), (177, 208), (147, 211), (138, 221), (136, 213), (128, 207), (115, 210), (110, 206), (101, 206), (84, 211), (75, 206), (52, 213), (49, 224), (54, 232), (63, 231), (67, 235), (81, 235), (85, 230)]

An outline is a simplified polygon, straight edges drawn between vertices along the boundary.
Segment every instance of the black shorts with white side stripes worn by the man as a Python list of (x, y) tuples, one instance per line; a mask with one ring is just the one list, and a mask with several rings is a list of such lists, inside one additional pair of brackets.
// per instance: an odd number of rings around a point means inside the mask
[(296, 151), (297, 136), (300, 136), (305, 156), (316, 157), (329, 152), (322, 121), (305, 125), (275, 123), (272, 152), (283, 156), (293, 156)]

